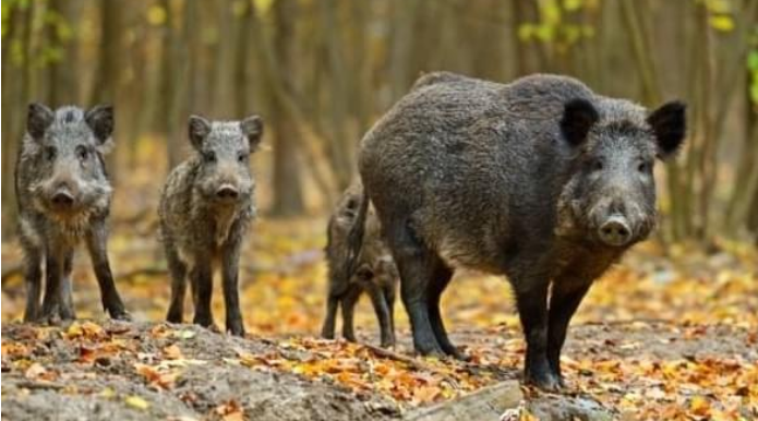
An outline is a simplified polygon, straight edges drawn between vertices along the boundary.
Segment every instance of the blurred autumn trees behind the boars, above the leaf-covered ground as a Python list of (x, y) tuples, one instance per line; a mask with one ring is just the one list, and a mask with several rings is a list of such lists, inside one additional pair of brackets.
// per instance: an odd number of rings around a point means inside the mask
[[(686, 100), (687, 147), (662, 183), (666, 238), (755, 238), (756, 22), (751, 0), (3, 1), (3, 175), (31, 100), (113, 104), (117, 187), (179, 163), (190, 113), (256, 112), (264, 208), (317, 213), (354, 176), (362, 134), (423, 72), (554, 72), (646, 106)], [(152, 212), (154, 193), (117, 215)]]

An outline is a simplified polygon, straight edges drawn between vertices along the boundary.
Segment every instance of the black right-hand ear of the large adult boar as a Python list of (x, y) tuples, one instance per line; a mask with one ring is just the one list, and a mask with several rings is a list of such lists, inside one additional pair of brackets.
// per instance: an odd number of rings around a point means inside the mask
[(666, 159), (676, 154), (687, 131), (687, 106), (678, 100), (666, 103), (648, 116), (648, 124), (655, 135), (658, 157)]

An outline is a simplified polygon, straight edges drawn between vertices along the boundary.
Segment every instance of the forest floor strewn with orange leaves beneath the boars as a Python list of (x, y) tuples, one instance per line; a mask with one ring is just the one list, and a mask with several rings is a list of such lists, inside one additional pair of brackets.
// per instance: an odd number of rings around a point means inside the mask
[[(443, 298), (448, 330), (468, 362), (413, 357), (400, 303), (393, 351), (375, 347), (368, 300), (356, 318), (368, 346), (318, 339), (324, 226), (315, 218), (254, 226), (241, 264), (245, 338), (160, 323), (169, 282), (149, 218), (116, 221), (110, 241), (134, 323), (106, 320), (83, 255), (74, 269), (81, 320), (19, 323), (20, 252), (3, 243), (2, 417), (409, 419), (419, 408), (518, 378), (524, 340), (507, 282), (494, 276), (458, 274)], [(214, 310), (222, 326), (218, 292)], [(563, 365), (567, 392), (556, 397), (516, 387), (509, 416), (542, 418), (551, 399), (561, 398), (602, 408), (610, 419), (758, 419), (756, 250), (638, 245), (582, 303)]]

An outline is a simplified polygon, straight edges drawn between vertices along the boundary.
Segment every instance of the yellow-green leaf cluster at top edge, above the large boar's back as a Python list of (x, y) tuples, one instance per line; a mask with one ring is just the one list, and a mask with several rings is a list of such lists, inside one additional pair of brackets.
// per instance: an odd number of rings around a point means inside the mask
[(538, 3), (539, 22), (524, 23), (518, 27), (521, 41), (537, 40), (552, 45), (560, 52), (568, 49), (585, 38), (594, 36), (594, 28), (587, 24), (570, 22), (570, 15), (582, 10), (595, 10), (599, 0), (545, 0)]

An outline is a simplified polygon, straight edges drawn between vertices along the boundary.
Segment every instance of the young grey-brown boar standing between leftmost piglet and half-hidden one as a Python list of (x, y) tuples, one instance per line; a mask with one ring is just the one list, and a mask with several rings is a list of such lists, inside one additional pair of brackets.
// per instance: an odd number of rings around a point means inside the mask
[(194, 323), (214, 324), (213, 269), (220, 263), (226, 327), (243, 336), (238, 265), (242, 240), (255, 216), (250, 154), (261, 142), (263, 122), (257, 116), (214, 122), (193, 116), (189, 130), (194, 154), (169, 175), (158, 208), (172, 277), (167, 320), (182, 322), (189, 276)]

